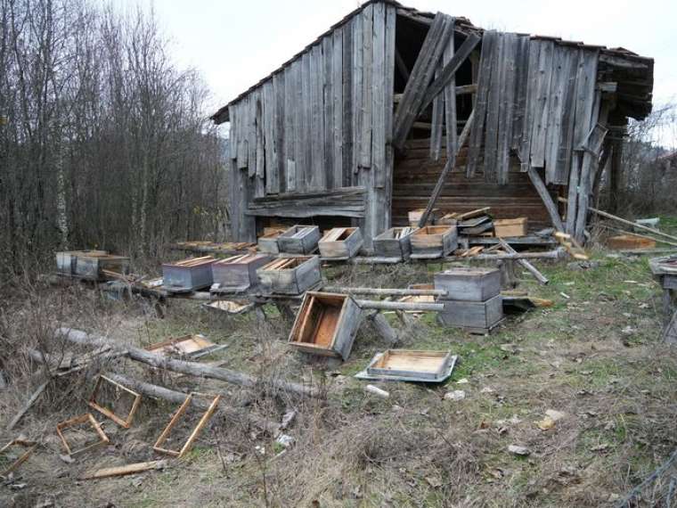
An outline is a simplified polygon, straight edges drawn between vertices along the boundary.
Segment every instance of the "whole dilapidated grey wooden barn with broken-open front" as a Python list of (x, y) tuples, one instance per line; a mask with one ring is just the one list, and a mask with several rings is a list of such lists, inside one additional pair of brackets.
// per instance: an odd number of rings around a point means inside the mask
[(653, 60), (623, 48), (372, 0), (213, 115), (230, 123), (233, 239), (359, 225), (369, 245), (432, 204), (583, 238), (652, 88)]

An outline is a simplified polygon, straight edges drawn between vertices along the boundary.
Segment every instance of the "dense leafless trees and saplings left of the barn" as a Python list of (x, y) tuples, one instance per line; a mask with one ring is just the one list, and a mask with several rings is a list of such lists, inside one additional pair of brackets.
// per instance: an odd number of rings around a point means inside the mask
[(167, 47), (152, 12), (0, 0), (0, 259), (220, 231), (224, 141)]

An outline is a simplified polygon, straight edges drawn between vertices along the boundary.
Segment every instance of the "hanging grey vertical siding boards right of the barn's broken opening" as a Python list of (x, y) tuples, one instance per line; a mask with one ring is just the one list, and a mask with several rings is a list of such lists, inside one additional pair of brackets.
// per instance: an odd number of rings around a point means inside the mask
[(547, 184), (567, 184), (571, 153), (591, 129), (598, 54), (551, 39), (486, 31), (468, 175), (482, 155), (486, 181), (507, 184), (510, 154), (518, 151), (523, 170), (544, 168)]

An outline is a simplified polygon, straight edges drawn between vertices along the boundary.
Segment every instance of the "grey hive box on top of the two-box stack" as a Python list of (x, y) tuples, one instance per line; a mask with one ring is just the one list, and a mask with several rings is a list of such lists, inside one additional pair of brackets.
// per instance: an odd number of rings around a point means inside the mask
[(501, 272), (496, 268), (458, 267), (435, 274), (435, 289), (446, 291), (440, 299), (485, 301), (501, 293)]

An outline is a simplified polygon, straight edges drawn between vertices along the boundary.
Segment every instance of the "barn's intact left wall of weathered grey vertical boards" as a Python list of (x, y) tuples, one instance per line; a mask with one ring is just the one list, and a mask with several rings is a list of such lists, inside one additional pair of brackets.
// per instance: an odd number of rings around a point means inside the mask
[[(389, 225), (395, 29), (393, 5), (369, 4), (229, 106), (235, 239), (256, 238), (253, 202), (261, 216), (275, 196), (305, 203), (347, 187), (364, 190), (352, 217), (366, 237)], [(333, 213), (312, 201), (299, 209)]]

